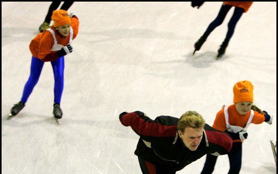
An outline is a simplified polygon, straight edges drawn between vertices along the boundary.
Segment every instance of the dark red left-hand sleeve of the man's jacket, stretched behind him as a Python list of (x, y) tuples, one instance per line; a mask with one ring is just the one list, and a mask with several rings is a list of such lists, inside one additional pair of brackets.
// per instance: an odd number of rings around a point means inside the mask
[(163, 125), (154, 122), (144, 113), (136, 111), (133, 113), (125, 114), (120, 119), (121, 123), (125, 126), (131, 126), (131, 128), (140, 136), (151, 137), (175, 137), (176, 125)]

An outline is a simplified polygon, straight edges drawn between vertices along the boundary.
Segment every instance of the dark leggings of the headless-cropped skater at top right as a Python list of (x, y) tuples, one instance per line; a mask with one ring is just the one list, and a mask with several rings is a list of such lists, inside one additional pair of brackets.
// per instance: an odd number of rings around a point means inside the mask
[[(206, 39), (208, 35), (211, 34), (211, 32), (218, 26), (220, 26), (223, 23), (223, 20), (225, 19), (228, 11), (233, 6), (230, 5), (222, 5), (221, 9), (217, 15), (217, 17), (212, 21), (212, 23), (207, 27), (206, 31), (203, 34), (203, 37)], [(226, 34), (226, 38), (224, 40), (225, 44), (228, 44), (231, 36), (233, 36), (236, 25), (244, 13), (244, 9), (240, 7), (236, 7), (233, 16), (231, 16), (230, 21), (228, 23), (228, 32)]]

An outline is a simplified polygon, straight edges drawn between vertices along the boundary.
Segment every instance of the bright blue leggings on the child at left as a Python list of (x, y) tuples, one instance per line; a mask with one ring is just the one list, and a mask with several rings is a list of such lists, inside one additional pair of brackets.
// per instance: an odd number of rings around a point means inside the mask
[[(40, 59), (32, 56), (31, 72), (28, 81), (25, 84), (21, 102), (26, 103), (31, 95), (35, 85), (39, 81), (39, 76), (42, 70), (44, 62)], [(54, 102), (60, 103), (64, 89), (64, 57), (60, 57), (57, 60), (51, 61), (53, 73), (54, 73)]]

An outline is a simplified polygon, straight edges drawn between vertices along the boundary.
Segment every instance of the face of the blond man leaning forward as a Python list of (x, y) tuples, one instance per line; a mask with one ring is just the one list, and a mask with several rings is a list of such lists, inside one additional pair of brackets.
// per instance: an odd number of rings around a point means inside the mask
[(183, 133), (180, 130), (178, 130), (178, 135), (187, 148), (189, 148), (191, 151), (195, 151), (202, 140), (203, 127), (186, 127)]

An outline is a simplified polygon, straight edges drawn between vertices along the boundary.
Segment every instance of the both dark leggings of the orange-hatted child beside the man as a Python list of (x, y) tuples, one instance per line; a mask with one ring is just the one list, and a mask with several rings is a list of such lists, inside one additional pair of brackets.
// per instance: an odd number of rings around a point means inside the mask
[[(242, 143), (235, 142), (228, 153), (230, 169), (228, 174), (236, 174), (239, 173), (241, 169), (241, 160), (242, 160)], [(203, 170), (201, 174), (209, 174), (214, 170), (214, 166), (216, 164), (217, 156), (213, 156), (211, 154), (206, 155), (206, 160), (204, 163)]]

